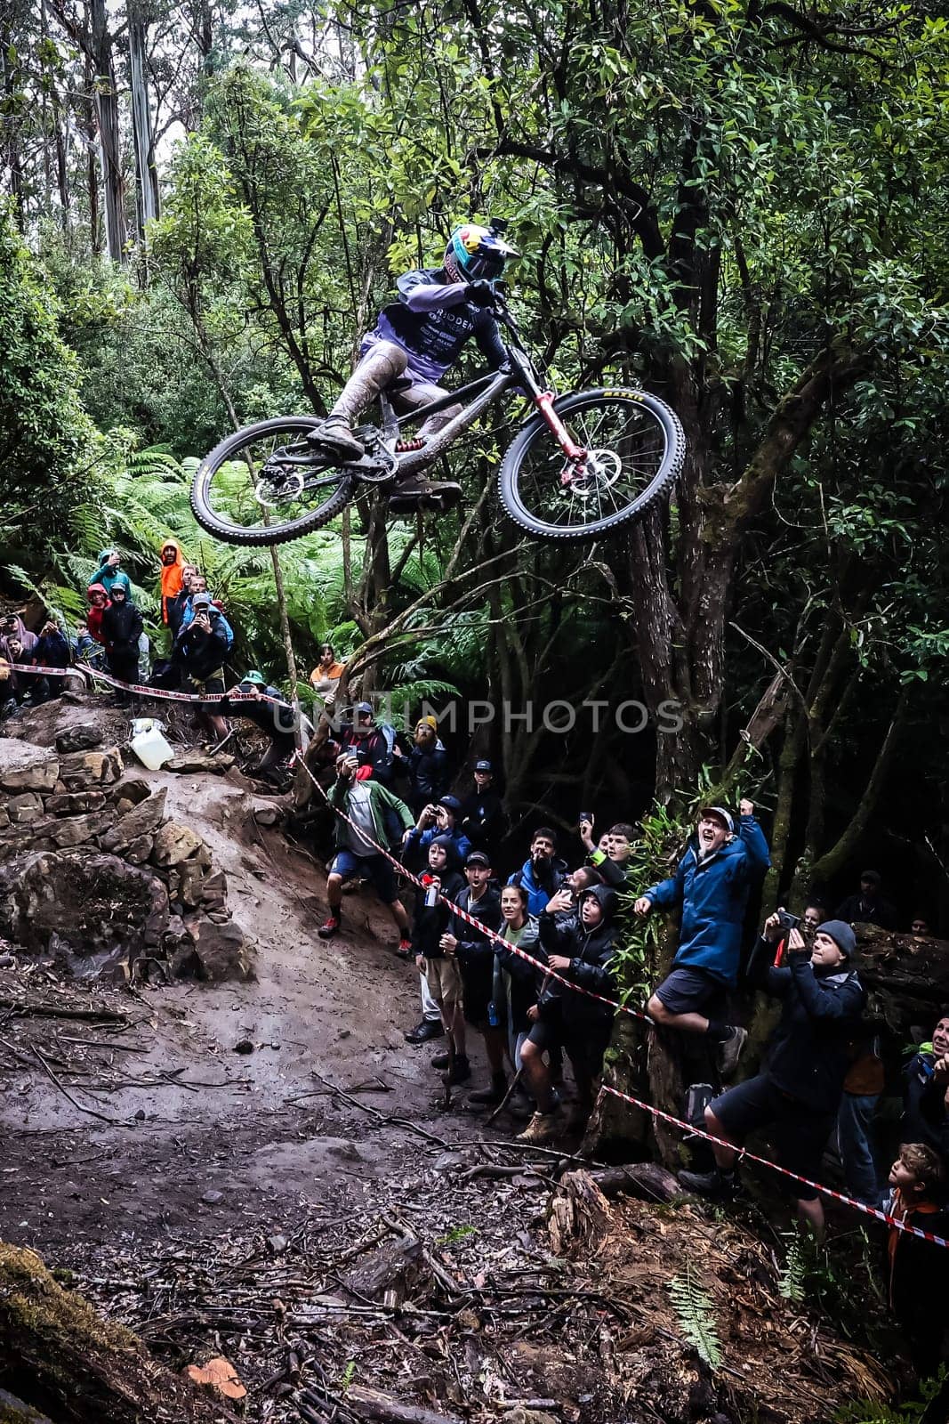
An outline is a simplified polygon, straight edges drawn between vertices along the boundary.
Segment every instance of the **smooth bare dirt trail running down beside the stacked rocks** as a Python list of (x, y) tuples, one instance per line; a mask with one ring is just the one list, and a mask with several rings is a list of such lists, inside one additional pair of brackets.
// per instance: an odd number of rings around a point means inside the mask
[[(260, 797), (243, 778), (142, 775), (168, 787), (168, 813), (191, 824), (226, 870), (235, 918), (256, 940), (258, 981), (107, 993), (134, 1021), (114, 1051), (65, 1042), (111, 1042), (95, 1025), (9, 1022), (1, 1037), (20, 1057), (0, 1044), (0, 1237), (55, 1257), (63, 1242), (117, 1232), (246, 1229), (327, 1195), (363, 1200), (370, 1182), (381, 1209), (386, 1176), (401, 1180), (418, 1139), (376, 1126), (324, 1089), (314, 1069), (437, 1135), (475, 1126), (461, 1112), (440, 1112), (431, 1052), (404, 1042), (418, 1018), (417, 977), (391, 953), (388, 916), (371, 893), (347, 896), (344, 931), (322, 941), (322, 871), (280, 832), (256, 824)], [(242, 1040), (253, 1052), (235, 1052)], [(178, 1081), (85, 1092), (92, 1079), (61, 1068), (85, 1106), (117, 1119), (104, 1124), (73, 1106), (38, 1061), (30, 1065), (31, 1042), (51, 1061), (91, 1058), (100, 1082), (162, 1072)], [(310, 1096), (289, 1101), (302, 1095)]]

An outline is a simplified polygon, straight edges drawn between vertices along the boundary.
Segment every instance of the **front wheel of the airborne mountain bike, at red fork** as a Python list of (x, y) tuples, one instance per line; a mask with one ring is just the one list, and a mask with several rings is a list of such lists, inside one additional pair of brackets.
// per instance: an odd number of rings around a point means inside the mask
[(498, 476), (501, 501), (535, 538), (593, 538), (640, 518), (674, 483), (686, 437), (670, 407), (645, 390), (580, 390), (553, 407), (586, 454), (568, 459), (535, 416)]

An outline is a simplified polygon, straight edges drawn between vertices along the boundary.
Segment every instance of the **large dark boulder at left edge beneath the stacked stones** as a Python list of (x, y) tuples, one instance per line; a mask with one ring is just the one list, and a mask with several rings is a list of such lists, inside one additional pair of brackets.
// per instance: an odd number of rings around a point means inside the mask
[(118, 856), (34, 852), (0, 866), (0, 934), (30, 953), (132, 963), (166, 927), (165, 886)]

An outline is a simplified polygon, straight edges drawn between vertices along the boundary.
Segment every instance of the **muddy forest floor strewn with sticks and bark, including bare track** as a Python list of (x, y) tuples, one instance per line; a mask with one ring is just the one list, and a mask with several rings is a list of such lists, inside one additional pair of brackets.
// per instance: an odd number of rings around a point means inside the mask
[[(141, 775), (226, 870), (258, 978), (108, 990), (0, 968), (0, 1239), (68, 1272), (172, 1367), (226, 1354), (248, 1415), (275, 1424), (376, 1417), (360, 1384), (511, 1424), (817, 1424), (889, 1393), (858, 1343), (783, 1297), (767, 1225), (763, 1243), (697, 1206), (600, 1203), (555, 1250), (546, 1215), (576, 1142), (525, 1152), (509, 1118), (485, 1134), (465, 1091), (445, 1108), (433, 1047), (403, 1038), (417, 975), (371, 893), (346, 897), (323, 943), (323, 867), (255, 820), (259, 787)], [(122, 1017), (21, 1015), (24, 997)], [(477, 1042), (471, 1058), (479, 1085)], [(400, 1252), (405, 1270), (370, 1280)], [(719, 1319), (714, 1371), (672, 1304), (683, 1273)], [(763, 1331), (783, 1341), (774, 1377)]]

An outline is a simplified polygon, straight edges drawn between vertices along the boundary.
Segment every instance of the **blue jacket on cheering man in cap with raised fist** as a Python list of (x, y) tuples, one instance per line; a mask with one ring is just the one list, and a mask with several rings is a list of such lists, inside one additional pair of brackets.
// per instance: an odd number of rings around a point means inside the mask
[(682, 907), (673, 964), (693, 965), (734, 987), (748, 891), (770, 864), (768, 843), (754, 816), (743, 816), (737, 837), (703, 862), (697, 843), (690, 842), (676, 874), (643, 891), (660, 910)]

